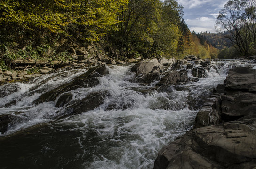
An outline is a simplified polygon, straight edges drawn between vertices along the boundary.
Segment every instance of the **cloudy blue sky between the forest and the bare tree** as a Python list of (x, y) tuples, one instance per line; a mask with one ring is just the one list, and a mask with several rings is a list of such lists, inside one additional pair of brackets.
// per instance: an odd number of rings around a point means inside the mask
[(215, 33), (215, 20), (228, 0), (177, 0), (190, 31)]

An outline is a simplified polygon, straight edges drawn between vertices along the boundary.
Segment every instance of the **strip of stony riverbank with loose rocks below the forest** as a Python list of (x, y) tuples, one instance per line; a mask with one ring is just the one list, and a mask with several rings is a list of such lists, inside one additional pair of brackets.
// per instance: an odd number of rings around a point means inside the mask
[[(53, 73), (53, 72), (61, 72), (64, 70), (70, 70), (70, 69), (78, 69), (78, 68), (90, 68), (93, 66), (101, 66), (101, 65), (115, 65), (115, 64), (131, 64), (134, 62), (152, 62), (152, 65), (146, 64), (148, 68), (144, 67), (143, 69), (148, 69), (149, 72), (152, 70), (155, 64), (161, 65), (159, 68), (163, 68), (164, 66), (171, 66), (174, 64), (176, 70), (180, 69), (182, 65), (186, 65), (188, 61), (196, 61), (197, 63), (202, 62), (203, 60), (198, 59), (197, 57), (191, 55), (187, 56), (183, 60), (176, 60), (174, 58), (172, 59), (166, 59), (166, 58), (160, 58), (157, 59), (149, 59), (149, 60), (142, 60), (142, 58), (135, 58), (134, 56), (131, 56), (126, 61), (120, 61), (118, 60), (118, 56), (116, 56), (116, 60), (109, 58), (107, 56), (104, 56), (103, 54), (97, 52), (94, 49), (94, 46), (88, 46), (88, 51), (84, 48), (82, 49), (72, 49), (72, 61), (40, 61), (40, 60), (24, 60), (24, 59), (17, 59), (13, 60), (10, 64), (12, 69), (9, 70), (2, 70), (0, 68), (0, 84), (4, 84), (6, 82), (15, 82), (15, 81), (23, 81), (27, 80), (33, 77), (39, 77), (44, 74)], [(157, 63), (156, 63), (157, 62)], [(152, 67), (153, 66), (153, 67)], [(140, 68), (142, 69), (142, 68)], [(160, 71), (153, 70), (155, 71)], [(32, 71), (34, 70), (34, 71)], [(134, 69), (132, 70), (134, 71)], [(199, 74), (202, 76), (203, 70), (200, 70)], [(141, 73), (149, 73), (149, 72), (140, 72), (140, 70), (137, 71), (138, 74)], [(197, 71), (198, 72), (198, 71)]]

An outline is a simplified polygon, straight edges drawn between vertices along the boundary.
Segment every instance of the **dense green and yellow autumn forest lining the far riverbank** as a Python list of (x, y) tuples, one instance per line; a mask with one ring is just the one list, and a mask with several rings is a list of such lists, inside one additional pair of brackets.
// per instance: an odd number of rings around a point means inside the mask
[(216, 58), (218, 49), (191, 33), (176, 0), (0, 1), (0, 65), (13, 59), (72, 60), (91, 43), (112, 57)]

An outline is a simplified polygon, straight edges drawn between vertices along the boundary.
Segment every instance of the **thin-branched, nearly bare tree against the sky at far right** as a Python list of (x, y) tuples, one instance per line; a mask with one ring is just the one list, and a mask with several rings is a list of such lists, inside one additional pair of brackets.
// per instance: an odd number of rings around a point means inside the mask
[(241, 55), (249, 54), (249, 47), (256, 42), (256, 1), (230, 0), (219, 12), (216, 26), (228, 31), (228, 38)]

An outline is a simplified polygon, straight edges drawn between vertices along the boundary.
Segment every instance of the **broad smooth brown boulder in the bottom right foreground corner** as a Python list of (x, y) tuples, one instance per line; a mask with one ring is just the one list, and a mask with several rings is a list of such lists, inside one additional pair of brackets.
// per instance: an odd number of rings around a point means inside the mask
[(154, 169), (253, 169), (256, 115), (188, 131), (165, 146)]

